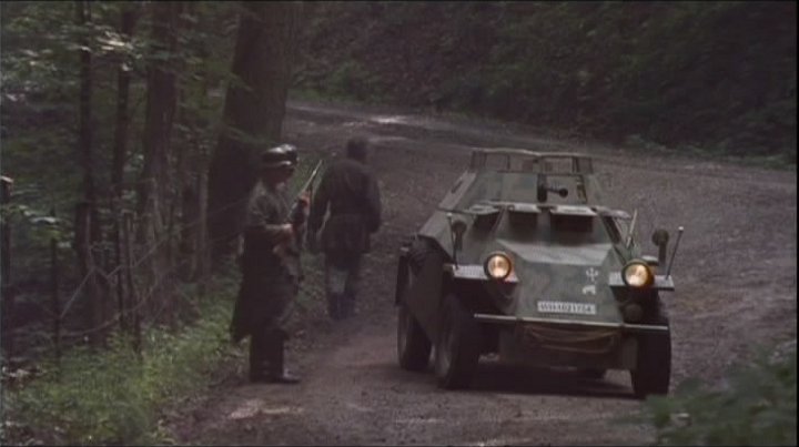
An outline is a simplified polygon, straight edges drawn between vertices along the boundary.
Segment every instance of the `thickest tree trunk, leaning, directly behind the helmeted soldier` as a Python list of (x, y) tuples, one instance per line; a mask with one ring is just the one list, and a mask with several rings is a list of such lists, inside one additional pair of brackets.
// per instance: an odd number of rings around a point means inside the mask
[(302, 14), (299, 2), (243, 2), (224, 126), (209, 171), (212, 258), (233, 252), (244, 205), (255, 183), (257, 150), (281, 142), (292, 59)]

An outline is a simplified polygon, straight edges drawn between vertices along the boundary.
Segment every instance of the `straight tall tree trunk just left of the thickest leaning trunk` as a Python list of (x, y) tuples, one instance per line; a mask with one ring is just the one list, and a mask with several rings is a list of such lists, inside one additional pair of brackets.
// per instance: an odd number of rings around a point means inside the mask
[[(155, 2), (150, 4), (153, 12), (153, 31), (146, 79), (146, 115), (144, 122), (143, 146), (144, 165), (138, 189), (138, 230), (139, 244), (144, 248), (142, 272), (146, 277), (142, 299), (152, 315), (159, 307), (166, 305), (161, 301), (165, 281), (171, 270), (169, 260), (169, 235), (166, 219), (170, 203), (170, 136), (178, 102), (178, 82), (173, 54), (176, 50), (178, 21), (182, 4), (180, 2)], [(161, 302), (161, 303), (159, 303)], [(169, 316), (169, 308), (166, 309)]]

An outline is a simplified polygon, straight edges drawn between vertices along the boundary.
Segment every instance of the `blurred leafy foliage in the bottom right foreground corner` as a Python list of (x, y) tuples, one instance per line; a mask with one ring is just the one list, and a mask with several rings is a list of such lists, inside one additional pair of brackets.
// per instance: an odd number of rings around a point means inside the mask
[(686, 380), (671, 396), (650, 397), (646, 418), (659, 445), (796, 445), (796, 347), (781, 358), (761, 353), (736, 366), (720, 389)]

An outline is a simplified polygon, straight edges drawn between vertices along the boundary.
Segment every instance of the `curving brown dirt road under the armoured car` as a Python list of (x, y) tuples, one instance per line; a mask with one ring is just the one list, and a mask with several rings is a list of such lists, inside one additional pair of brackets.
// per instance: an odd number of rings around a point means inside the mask
[[(307, 304), (290, 344), (299, 386), (250, 385), (242, 368), (171, 424), (182, 444), (224, 445), (640, 445), (654, 433), (623, 423), (640, 408), (626, 373), (603, 380), (530, 374), (486, 362), (474, 386), (444, 392), (433, 374), (400, 369), (393, 286), (396, 250), (464, 169), (472, 146), (576, 150), (599, 158), (610, 205), (638, 209), (641, 241), (685, 226), (665, 295), (672, 323), (672, 387), (715, 380), (757, 346), (796, 338), (796, 174), (641, 155), (555, 141), (499, 124), (363, 108), (293, 103), (287, 140), (340, 151), (352, 134), (374, 142), (384, 226), (364, 272), (360, 314), (331, 323)], [(311, 260), (320, 266), (320, 260)], [(318, 281), (318, 273), (310, 275)]]

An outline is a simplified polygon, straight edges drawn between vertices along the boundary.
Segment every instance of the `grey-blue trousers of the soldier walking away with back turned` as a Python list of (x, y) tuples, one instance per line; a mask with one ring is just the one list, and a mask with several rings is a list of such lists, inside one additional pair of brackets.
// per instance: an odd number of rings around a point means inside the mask
[(325, 293), (331, 318), (346, 318), (355, 314), (360, 282), (361, 253), (325, 254)]

